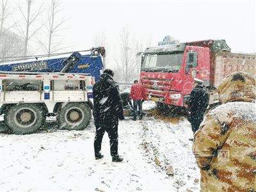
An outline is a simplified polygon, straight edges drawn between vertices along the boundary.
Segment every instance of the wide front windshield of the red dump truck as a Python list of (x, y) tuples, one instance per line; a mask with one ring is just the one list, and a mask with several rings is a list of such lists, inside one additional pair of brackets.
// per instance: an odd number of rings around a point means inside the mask
[(141, 71), (178, 72), (181, 68), (183, 51), (145, 54)]

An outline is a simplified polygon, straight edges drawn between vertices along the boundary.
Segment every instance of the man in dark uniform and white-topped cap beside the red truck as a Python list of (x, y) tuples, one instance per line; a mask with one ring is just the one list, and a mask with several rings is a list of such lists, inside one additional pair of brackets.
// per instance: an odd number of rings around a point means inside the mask
[(202, 85), (204, 81), (196, 78), (194, 81), (194, 88), (190, 93), (190, 99), (184, 105), (189, 110), (188, 121), (191, 123), (193, 133), (198, 130), (201, 122), (204, 120), (204, 113), (209, 104), (208, 90)]

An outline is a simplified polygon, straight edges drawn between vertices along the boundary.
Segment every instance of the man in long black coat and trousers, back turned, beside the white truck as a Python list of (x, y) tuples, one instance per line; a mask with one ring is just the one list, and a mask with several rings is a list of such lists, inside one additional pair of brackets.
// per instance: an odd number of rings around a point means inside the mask
[(100, 150), (106, 131), (109, 136), (112, 161), (121, 162), (123, 158), (118, 155), (118, 118), (124, 120), (124, 111), (118, 84), (113, 80), (113, 76), (113, 71), (106, 69), (93, 86), (93, 117), (96, 127), (94, 152), (95, 159), (103, 157)]

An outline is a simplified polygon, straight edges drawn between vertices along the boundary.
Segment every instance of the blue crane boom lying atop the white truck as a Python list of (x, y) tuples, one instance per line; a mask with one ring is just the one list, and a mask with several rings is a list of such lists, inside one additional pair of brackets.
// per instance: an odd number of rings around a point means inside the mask
[[(90, 74), (95, 81), (100, 78), (104, 68), (105, 49), (96, 47), (86, 51), (67, 52), (46, 56), (29, 56), (26, 60), (19, 57), (10, 58), (8, 62), (0, 63), (1, 72), (61, 72)], [(102, 61), (103, 60), (103, 61)]]

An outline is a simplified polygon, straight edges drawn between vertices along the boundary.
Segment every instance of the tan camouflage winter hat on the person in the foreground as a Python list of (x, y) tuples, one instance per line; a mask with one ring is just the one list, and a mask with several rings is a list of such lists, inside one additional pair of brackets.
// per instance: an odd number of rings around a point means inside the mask
[(221, 103), (230, 101), (253, 102), (256, 98), (256, 76), (247, 72), (233, 72), (218, 86)]

